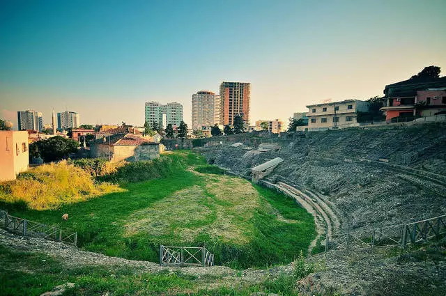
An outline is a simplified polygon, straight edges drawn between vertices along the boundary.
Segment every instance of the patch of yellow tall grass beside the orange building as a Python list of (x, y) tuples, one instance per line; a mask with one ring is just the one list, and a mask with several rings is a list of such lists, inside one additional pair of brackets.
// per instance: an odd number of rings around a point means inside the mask
[(88, 172), (62, 161), (43, 164), (20, 173), (17, 180), (4, 182), (0, 185), (0, 201), (26, 203), (33, 210), (48, 210), (64, 203), (121, 191), (108, 182), (95, 182)]

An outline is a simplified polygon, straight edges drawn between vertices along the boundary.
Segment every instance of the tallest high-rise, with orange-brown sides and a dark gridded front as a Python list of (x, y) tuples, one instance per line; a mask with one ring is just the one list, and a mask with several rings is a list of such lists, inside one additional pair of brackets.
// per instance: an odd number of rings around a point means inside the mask
[(233, 125), (234, 117), (242, 116), (249, 125), (249, 101), (251, 84), (222, 82), (220, 84), (220, 125)]

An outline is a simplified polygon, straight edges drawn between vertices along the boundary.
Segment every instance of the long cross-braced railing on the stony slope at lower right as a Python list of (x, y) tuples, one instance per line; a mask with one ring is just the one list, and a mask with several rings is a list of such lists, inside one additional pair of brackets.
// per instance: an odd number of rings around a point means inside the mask
[(325, 239), (325, 252), (330, 250), (362, 250), (376, 247), (402, 247), (426, 242), (433, 237), (446, 235), (446, 215), (408, 224), (346, 232), (336, 239)]

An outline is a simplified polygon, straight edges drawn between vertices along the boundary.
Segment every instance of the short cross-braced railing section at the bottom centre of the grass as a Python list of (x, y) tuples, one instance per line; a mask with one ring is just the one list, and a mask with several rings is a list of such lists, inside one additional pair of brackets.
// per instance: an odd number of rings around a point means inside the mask
[(166, 247), (161, 244), (160, 265), (213, 266), (214, 255), (206, 247)]

